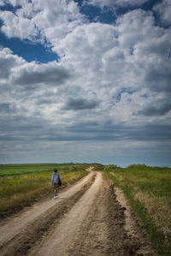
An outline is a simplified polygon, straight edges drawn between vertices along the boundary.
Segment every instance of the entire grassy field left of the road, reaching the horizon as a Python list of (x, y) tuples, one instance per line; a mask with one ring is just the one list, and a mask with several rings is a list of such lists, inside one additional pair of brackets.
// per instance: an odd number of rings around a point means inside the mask
[(0, 165), (0, 216), (18, 211), (33, 200), (53, 193), (50, 185), (54, 168), (62, 186), (85, 176), (89, 164), (9, 164)]

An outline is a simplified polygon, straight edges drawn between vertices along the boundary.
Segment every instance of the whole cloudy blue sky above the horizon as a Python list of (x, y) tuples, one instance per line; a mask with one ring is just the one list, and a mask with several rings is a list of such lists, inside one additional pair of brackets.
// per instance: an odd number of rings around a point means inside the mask
[(1, 0), (0, 164), (171, 167), (170, 0)]

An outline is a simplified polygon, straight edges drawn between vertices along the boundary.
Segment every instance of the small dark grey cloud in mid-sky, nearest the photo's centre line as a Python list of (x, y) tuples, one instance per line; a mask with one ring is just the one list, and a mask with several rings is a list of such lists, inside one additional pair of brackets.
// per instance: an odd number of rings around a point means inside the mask
[(86, 98), (68, 98), (63, 110), (92, 110), (97, 108), (99, 101), (97, 99)]

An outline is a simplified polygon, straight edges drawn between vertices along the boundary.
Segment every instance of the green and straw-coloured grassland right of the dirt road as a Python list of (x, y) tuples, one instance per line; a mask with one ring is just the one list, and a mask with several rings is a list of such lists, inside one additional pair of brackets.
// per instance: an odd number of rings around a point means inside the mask
[(171, 255), (171, 169), (132, 164), (125, 169), (107, 165), (104, 170), (127, 193), (157, 252)]

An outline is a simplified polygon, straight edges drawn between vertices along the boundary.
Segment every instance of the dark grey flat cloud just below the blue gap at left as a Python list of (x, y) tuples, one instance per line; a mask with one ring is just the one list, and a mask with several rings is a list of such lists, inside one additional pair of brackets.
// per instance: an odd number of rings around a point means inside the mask
[(68, 70), (62, 67), (46, 66), (38, 67), (32, 70), (32, 68), (24, 69), (21, 75), (15, 79), (15, 83), (18, 85), (36, 85), (47, 84), (48, 85), (61, 85), (65, 80), (70, 77)]

